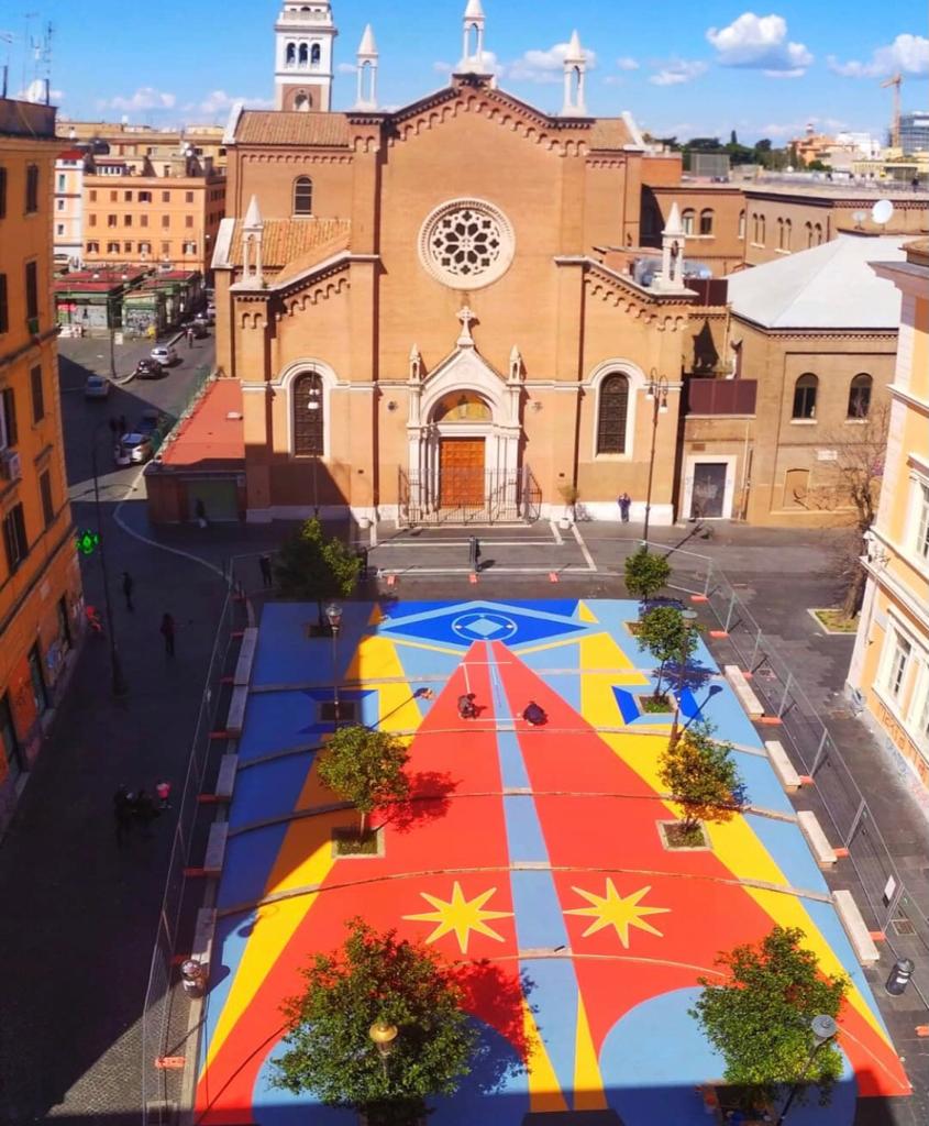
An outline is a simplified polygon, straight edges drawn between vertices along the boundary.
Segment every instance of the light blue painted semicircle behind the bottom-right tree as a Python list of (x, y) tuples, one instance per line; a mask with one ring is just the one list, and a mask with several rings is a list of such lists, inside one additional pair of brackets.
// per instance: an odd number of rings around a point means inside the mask
[[(698, 989), (681, 989), (643, 1001), (625, 1013), (607, 1034), (600, 1051), (600, 1072), (607, 1101), (625, 1126), (706, 1126), (702, 1096), (695, 1088), (707, 1075), (722, 1075), (724, 1062), (687, 1012)], [(807, 1126), (850, 1126), (855, 1118), (855, 1081), (848, 1061), (828, 1107), (813, 1098), (794, 1105), (792, 1123)], [(802, 1114), (803, 1111), (803, 1114)]]

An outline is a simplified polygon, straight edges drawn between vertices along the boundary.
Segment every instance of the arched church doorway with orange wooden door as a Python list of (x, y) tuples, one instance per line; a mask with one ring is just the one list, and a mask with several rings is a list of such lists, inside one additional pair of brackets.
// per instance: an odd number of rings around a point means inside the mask
[(453, 391), (436, 404), (430, 421), (438, 443), (438, 507), (482, 508), (490, 484), (486, 445), (493, 412), (476, 392)]

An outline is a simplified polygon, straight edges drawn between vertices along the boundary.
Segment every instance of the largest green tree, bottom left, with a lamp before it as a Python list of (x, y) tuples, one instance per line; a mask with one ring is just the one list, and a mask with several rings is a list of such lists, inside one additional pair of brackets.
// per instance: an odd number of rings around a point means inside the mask
[[(471, 1071), (477, 1043), (465, 993), (434, 951), (352, 919), (345, 946), (318, 954), (303, 977), (303, 993), (284, 1006), (275, 1087), (361, 1112), (369, 1126), (413, 1126), (430, 1096), (454, 1094)], [(373, 1025), (396, 1030), (388, 1055)]]

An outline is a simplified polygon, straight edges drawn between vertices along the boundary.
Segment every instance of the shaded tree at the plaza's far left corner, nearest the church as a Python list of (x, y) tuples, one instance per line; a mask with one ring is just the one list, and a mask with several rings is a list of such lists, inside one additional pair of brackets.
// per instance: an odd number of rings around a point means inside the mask
[(285, 598), (314, 601), (322, 628), (322, 604), (349, 598), (358, 586), (361, 560), (338, 536), (327, 537), (313, 517), (280, 545), (275, 561), (278, 589)]

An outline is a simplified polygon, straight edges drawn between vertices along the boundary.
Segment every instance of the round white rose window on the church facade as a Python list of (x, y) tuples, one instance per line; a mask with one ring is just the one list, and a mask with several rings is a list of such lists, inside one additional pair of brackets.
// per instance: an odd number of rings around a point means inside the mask
[(501, 278), (516, 242), (507, 216), (483, 199), (452, 199), (422, 224), (419, 257), (443, 285), (480, 289)]

